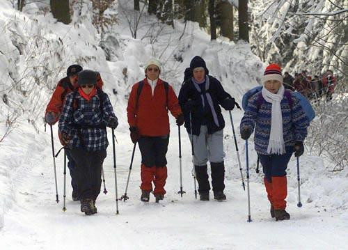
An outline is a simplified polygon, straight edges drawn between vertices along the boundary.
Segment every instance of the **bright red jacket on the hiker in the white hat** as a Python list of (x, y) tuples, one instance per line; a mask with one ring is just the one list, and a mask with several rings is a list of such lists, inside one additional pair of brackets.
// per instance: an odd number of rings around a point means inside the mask
[[(133, 85), (129, 95), (127, 106), (129, 126), (138, 127), (140, 134), (143, 136), (167, 135), (169, 134), (169, 117), (166, 109), (167, 98), (164, 81), (158, 79), (153, 96), (148, 79), (143, 79), (143, 82), (137, 110), (136, 95), (139, 83)], [(175, 118), (182, 114), (177, 96), (170, 85), (168, 86), (168, 109)]]

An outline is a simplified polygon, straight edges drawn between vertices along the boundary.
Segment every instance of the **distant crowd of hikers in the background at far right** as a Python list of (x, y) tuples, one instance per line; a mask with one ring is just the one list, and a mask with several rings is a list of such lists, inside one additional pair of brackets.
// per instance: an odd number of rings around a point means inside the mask
[(322, 77), (318, 75), (312, 77), (308, 75), (307, 70), (295, 73), (294, 77), (289, 72), (284, 73), (285, 88), (299, 91), (299, 93), (310, 100), (318, 100), (321, 97), (325, 97), (326, 102), (331, 101), (336, 85), (337, 81), (332, 70), (326, 70)]

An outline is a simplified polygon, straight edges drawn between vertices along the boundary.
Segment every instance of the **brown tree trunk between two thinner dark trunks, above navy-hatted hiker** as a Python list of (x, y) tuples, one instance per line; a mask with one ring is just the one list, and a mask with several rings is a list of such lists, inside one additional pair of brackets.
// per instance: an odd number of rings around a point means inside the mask
[(233, 6), (228, 1), (220, 1), (216, 6), (219, 13), (221, 35), (233, 40)]

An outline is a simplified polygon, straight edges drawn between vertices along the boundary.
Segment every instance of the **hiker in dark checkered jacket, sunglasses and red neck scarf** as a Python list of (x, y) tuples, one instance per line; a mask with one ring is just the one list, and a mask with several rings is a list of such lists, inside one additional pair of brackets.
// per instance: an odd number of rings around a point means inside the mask
[(118, 119), (108, 95), (97, 88), (97, 72), (79, 72), (79, 87), (66, 97), (58, 129), (67, 152), (76, 164), (81, 212), (95, 214), (102, 184), (102, 164), (108, 146), (106, 126), (115, 129)]

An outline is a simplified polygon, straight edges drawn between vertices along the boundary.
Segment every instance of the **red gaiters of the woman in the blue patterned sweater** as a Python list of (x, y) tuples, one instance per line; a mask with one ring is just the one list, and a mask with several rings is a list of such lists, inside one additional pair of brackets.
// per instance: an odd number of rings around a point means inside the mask
[(266, 178), (264, 178), (264, 187), (266, 187), (267, 197), (271, 205), (274, 206), (274, 209), (285, 209), (285, 198), (287, 196), (286, 175), (281, 177), (272, 176), (272, 182), (269, 182)]

